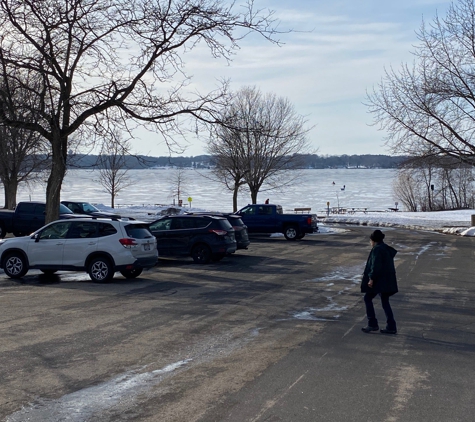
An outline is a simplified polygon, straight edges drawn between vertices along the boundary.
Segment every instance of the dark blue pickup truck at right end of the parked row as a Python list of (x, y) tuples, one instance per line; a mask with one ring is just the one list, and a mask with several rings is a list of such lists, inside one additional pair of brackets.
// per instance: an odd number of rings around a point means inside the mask
[(235, 214), (249, 233), (283, 233), (287, 240), (297, 240), (318, 230), (315, 214), (284, 214), (280, 205), (250, 204)]

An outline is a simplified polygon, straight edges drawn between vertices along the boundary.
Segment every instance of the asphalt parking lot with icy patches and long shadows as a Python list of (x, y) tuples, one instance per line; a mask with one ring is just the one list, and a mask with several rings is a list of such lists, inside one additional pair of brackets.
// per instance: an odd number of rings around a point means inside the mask
[(258, 237), (109, 284), (1, 275), (0, 420), (473, 420), (475, 239), (386, 230), (385, 336), (360, 331), (370, 232)]

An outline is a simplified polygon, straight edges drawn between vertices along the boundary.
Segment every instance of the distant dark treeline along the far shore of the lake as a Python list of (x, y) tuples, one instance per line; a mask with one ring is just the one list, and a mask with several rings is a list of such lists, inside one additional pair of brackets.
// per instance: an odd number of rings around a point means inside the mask
[[(303, 168), (396, 168), (407, 157), (390, 155), (306, 155)], [(70, 154), (68, 156), (69, 168), (100, 168), (97, 155)], [(147, 169), (152, 167), (193, 167), (209, 168), (213, 165), (210, 155), (197, 155), (194, 157), (149, 157), (144, 155), (129, 156), (126, 160), (128, 169)]]

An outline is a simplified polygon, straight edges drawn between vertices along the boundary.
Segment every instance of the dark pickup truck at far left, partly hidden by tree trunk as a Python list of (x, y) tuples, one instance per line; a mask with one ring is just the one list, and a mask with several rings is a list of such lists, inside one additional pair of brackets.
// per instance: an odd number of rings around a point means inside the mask
[[(25, 236), (45, 225), (46, 204), (44, 202), (19, 202), (14, 210), (0, 210), (0, 238), (7, 233)], [(84, 215), (74, 214), (63, 204), (59, 205), (59, 218), (77, 218)]]

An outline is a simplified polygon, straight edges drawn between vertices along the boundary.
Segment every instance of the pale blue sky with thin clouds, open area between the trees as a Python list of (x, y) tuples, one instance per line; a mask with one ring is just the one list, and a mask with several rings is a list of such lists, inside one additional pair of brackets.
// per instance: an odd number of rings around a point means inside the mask
[[(239, 3), (239, 2), (238, 2)], [(366, 92), (384, 69), (413, 61), (416, 32), (423, 19), (443, 17), (449, 1), (436, 0), (256, 0), (279, 19), (282, 46), (251, 35), (228, 65), (204, 47), (183, 56), (193, 88), (216, 88), (231, 81), (232, 90), (255, 86), (288, 98), (305, 116), (312, 152), (319, 155), (390, 154), (385, 133), (372, 125), (364, 105)], [(140, 132), (135, 152), (168, 155), (156, 134)], [(180, 140), (182, 155), (206, 153), (205, 140)], [(173, 154), (176, 155), (176, 154)]]

